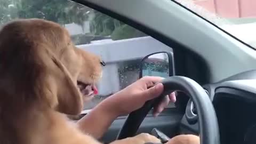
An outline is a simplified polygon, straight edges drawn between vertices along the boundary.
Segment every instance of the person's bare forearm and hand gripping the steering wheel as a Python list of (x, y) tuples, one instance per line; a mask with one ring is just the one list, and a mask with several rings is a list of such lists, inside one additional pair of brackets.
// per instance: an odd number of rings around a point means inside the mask
[[(161, 77), (143, 77), (139, 79), (122, 91), (100, 102), (89, 114), (78, 121), (78, 126), (94, 138), (101, 138), (118, 116), (129, 114), (141, 108), (147, 100), (158, 97), (164, 89), (163, 84), (151, 86), (155, 82), (162, 81), (162, 79)], [(148, 87), (150, 88), (148, 89)], [(160, 113), (170, 100), (175, 102), (174, 97), (174, 93), (166, 95), (166, 99), (156, 108), (155, 114)]]

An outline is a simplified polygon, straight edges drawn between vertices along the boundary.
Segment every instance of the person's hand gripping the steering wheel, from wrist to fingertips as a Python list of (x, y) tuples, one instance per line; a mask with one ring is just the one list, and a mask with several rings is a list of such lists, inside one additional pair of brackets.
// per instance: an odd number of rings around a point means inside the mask
[[(112, 107), (117, 115), (126, 115), (134, 110), (141, 108), (146, 101), (158, 97), (163, 92), (163, 84), (161, 82), (162, 77), (145, 76), (140, 78), (138, 81), (127, 86), (125, 89), (111, 95), (105, 100)], [(155, 85), (155, 86), (154, 86)], [(154, 107), (153, 114), (157, 116), (161, 113), (164, 108), (169, 105), (170, 102), (175, 102), (175, 93), (166, 95), (164, 100)]]

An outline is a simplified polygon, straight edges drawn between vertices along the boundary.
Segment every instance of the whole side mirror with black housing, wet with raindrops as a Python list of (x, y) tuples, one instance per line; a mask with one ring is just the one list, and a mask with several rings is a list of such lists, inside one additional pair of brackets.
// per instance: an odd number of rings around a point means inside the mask
[(141, 60), (140, 78), (143, 76), (169, 77), (173, 75), (173, 56), (169, 52), (152, 53)]

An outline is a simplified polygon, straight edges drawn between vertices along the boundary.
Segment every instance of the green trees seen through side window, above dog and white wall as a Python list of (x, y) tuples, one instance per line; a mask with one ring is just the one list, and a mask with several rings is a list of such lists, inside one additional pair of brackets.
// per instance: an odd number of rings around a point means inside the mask
[(61, 25), (74, 22), (81, 26), (89, 21), (91, 35), (111, 36), (114, 40), (146, 36), (106, 14), (68, 0), (0, 0), (0, 25), (19, 18), (41, 18)]

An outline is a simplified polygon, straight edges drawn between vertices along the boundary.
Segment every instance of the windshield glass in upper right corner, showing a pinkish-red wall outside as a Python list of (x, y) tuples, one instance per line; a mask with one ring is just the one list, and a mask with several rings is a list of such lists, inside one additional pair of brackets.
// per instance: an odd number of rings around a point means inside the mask
[(255, 0), (174, 0), (256, 48)]

